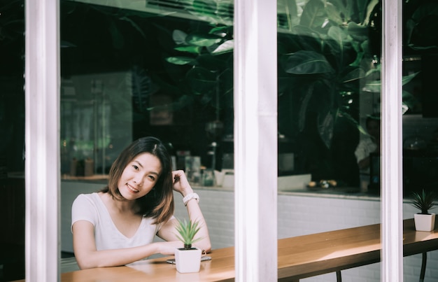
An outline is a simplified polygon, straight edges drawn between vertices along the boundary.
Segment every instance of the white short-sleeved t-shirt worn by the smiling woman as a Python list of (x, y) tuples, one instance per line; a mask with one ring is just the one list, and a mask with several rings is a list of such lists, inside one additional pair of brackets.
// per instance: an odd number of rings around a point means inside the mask
[(143, 218), (136, 234), (131, 238), (126, 237), (115, 227), (104, 202), (96, 192), (80, 194), (74, 200), (71, 207), (71, 226), (78, 220), (87, 220), (94, 225), (97, 251), (150, 244), (162, 227), (162, 224), (154, 225), (153, 218)]

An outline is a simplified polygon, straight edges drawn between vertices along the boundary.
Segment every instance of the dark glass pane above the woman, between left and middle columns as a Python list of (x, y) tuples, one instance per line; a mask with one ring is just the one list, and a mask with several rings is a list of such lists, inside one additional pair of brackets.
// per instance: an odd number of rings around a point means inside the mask
[[(62, 1), (64, 178), (105, 177), (140, 136), (169, 143), (176, 168), (229, 164), (232, 6), (178, 1)], [(197, 159), (196, 159), (197, 160)]]

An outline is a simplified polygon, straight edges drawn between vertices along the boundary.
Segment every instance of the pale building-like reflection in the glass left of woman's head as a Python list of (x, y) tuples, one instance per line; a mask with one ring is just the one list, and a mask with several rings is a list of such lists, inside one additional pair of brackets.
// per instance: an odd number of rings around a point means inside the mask
[(125, 71), (79, 74), (62, 80), (63, 175), (107, 174), (119, 153), (114, 146), (119, 148), (132, 139), (132, 129), (127, 126), (132, 123), (130, 77)]

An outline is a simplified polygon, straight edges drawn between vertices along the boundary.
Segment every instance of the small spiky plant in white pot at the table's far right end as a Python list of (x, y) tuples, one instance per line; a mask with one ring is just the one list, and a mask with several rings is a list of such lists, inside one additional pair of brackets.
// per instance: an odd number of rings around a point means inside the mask
[(437, 205), (437, 195), (434, 192), (426, 192), (424, 189), (421, 193), (412, 193), (411, 205), (415, 206), (421, 213), (414, 214), (415, 229), (417, 231), (432, 231), (435, 229), (435, 213), (429, 213), (429, 210)]

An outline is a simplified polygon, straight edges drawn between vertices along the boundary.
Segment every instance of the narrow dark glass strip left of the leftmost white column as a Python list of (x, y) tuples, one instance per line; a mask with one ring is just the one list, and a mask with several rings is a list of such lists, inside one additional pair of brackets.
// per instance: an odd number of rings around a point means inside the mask
[(0, 281), (24, 279), (24, 0), (0, 1)]

